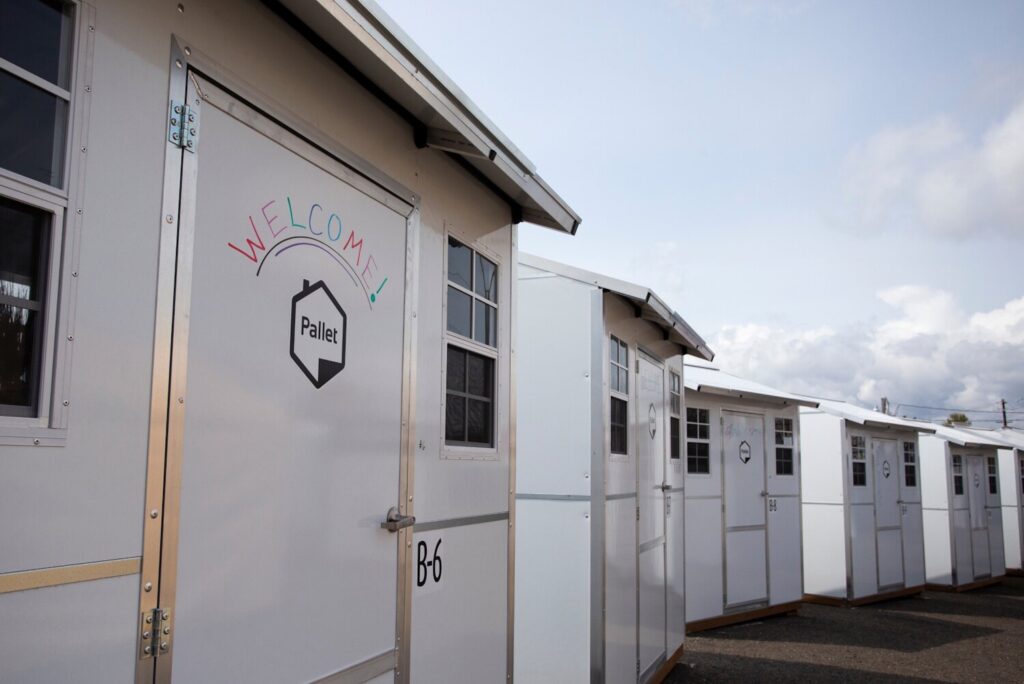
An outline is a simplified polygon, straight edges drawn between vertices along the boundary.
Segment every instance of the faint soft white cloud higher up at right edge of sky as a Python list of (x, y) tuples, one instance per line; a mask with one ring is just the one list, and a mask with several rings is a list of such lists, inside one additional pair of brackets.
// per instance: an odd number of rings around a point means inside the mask
[(948, 117), (882, 131), (848, 155), (842, 187), (858, 228), (1024, 237), (1024, 100), (976, 141)]

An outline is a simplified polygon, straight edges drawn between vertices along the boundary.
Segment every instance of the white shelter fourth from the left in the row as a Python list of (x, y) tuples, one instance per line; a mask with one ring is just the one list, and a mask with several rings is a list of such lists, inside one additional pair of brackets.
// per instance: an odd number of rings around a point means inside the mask
[(925, 586), (919, 435), (934, 428), (852, 403), (802, 409), (804, 593), (856, 605)]

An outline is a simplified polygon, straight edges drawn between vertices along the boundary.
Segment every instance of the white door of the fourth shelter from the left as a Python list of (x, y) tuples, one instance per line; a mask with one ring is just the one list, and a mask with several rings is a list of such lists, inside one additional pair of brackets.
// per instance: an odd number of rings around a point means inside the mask
[(871, 439), (874, 467), (874, 528), (878, 535), (879, 592), (903, 586), (902, 502), (899, 452), (895, 439)]

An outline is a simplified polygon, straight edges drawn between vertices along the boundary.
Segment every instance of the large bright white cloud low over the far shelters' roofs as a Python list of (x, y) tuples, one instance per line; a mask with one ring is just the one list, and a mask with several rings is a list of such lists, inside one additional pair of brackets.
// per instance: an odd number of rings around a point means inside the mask
[(966, 409), (1024, 397), (1024, 297), (969, 314), (948, 292), (905, 286), (879, 298), (893, 314), (847, 329), (725, 326), (721, 368), (794, 392), (877, 405)]

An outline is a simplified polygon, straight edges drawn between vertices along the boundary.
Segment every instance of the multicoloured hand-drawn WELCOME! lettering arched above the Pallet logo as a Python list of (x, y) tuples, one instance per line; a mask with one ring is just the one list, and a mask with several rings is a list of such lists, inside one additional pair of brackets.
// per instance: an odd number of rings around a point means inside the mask
[[(256, 264), (258, 275), (259, 268), (262, 268), (268, 255), (282, 254), (292, 247), (283, 243), (296, 241), (294, 246), (299, 246), (302, 239), (305, 239), (306, 244), (318, 243), (344, 261), (344, 265), (361, 281), (371, 304), (376, 302), (387, 284), (387, 277), (381, 277), (377, 261), (369, 248), (364, 254), (365, 241), (361, 236), (356, 234), (355, 228), (346, 231), (341, 215), (328, 212), (318, 203), (298, 206), (289, 196), (285, 198), (284, 204), (282, 207), (278, 200), (270, 200), (260, 207), (256, 214), (259, 218), (250, 214), (247, 218), (251, 236), (247, 234), (239, 241), (241, 247), (233, 242), (227, 243), (227, 246)], [(287, 212), (287, 218), (282, 216), (282, 210)]]

